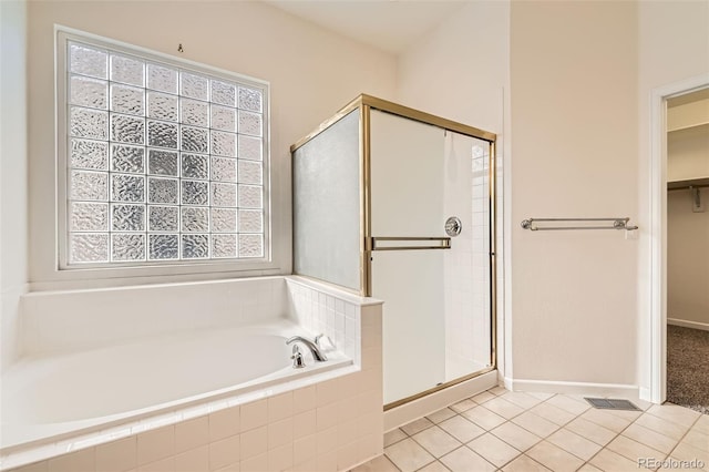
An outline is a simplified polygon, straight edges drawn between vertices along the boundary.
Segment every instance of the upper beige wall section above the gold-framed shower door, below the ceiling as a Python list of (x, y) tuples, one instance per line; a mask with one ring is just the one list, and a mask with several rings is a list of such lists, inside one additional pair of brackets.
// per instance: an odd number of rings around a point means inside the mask
[(398, 58), (397, 99), (503, 132), (508, 66), (507, 2), (471, 2)]

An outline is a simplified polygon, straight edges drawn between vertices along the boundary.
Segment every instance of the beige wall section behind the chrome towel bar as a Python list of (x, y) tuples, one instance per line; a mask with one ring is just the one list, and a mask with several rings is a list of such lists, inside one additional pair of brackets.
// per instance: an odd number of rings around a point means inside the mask
[(515, 380), (636, 383), (637, 240), (522, 229), (637, 218), (637, 4), (513, 2)]

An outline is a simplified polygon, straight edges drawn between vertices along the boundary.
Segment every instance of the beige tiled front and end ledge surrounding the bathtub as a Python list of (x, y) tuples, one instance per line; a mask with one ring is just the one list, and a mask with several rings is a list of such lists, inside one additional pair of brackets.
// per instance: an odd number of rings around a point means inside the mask
[[(268, 280), (270, 305), (309, 319), (306, 330), (326, 328), (338, 349), (338, 339), (353, 340), (343, 348), (353, 366), (61, 440), (37, 448), (35, 462), (25, 456), (19, 469), (3, 458), (2, 470), (336, 471), (381, 454), (381, 304), (299, 277), (276, 279)], [(310, 302), (298, 305), (299, 298)]]

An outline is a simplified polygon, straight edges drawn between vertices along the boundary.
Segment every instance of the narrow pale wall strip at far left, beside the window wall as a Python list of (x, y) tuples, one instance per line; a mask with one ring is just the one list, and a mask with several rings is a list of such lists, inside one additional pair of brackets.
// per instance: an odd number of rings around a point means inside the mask
[(27, 4), (0, 2), (0, 367), (17, 347), (27, 268)]

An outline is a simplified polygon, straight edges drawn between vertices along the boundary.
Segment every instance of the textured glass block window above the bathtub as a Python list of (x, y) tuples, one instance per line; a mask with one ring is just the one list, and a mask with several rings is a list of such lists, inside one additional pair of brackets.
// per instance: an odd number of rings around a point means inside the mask
[(66, 266), (265, 258), (267, 85), (99, 44), (65, 43)]

